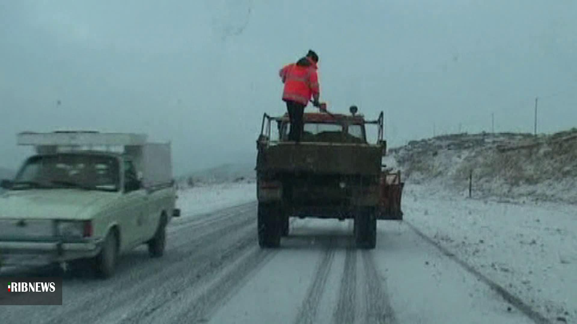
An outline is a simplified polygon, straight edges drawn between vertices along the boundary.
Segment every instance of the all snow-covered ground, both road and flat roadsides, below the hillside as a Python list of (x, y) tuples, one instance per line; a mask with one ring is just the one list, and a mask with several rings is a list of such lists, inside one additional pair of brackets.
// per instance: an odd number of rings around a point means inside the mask
[[(121, 259), (110, 280), (66, 277), (61, 307), (5, 306), (3, 322), (493, 324), (577, 318), (571, 205), (468, 199), (408, 183), (405, 221), (379, 221), (374, 250), (354, 247), (352, 221), (311, 218), (291, 220), (280, 248), (260, 249), (255, 198), (254, 183), (179, 190), (182, 217), (168, 228), (163, 258), (149, 258), (139, 247)], [(521, 302), (510, 302), (467, 267)]]

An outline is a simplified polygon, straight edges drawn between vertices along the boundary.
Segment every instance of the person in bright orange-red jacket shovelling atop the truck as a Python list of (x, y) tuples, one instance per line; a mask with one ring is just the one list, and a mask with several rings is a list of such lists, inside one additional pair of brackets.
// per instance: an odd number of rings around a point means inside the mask
[(301, 141), (304, 123), (302, 115), (305, 107), (313, 97), (313, 106), (320, 107), (319, 76), (317, 63), (319, 56), (312, 50), (297, 63), (284, 66), (279, 76), (284, 83), (283, 101), (287, 104), (288, 118), (290, 119), (289, 141)]

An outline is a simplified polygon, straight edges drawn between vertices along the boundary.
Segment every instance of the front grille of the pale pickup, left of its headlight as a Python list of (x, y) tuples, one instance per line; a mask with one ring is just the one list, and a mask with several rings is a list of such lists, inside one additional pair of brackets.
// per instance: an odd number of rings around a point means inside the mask
[(52, 220), (0, 219), (0, 239), (32, 239), (54, 236)]

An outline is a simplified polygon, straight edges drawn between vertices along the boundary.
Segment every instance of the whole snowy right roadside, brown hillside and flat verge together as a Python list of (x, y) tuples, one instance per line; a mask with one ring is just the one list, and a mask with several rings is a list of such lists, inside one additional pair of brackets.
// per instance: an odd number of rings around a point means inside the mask
[(552, 321), (577, 317), (576, 129), (445, 135), (391, 153), (407, 221)]

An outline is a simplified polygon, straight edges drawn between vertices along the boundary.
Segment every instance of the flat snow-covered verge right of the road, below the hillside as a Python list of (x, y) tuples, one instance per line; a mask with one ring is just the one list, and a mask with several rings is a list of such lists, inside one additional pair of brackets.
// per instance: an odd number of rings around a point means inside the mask
[(510, 204), (408, 184), (405, 220), (552, 321), (577, 319), (575, 206)]

